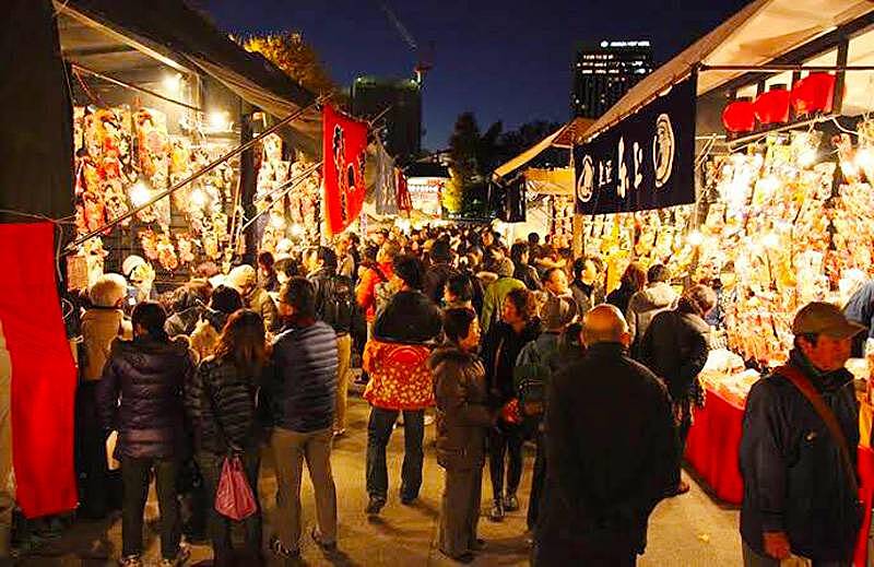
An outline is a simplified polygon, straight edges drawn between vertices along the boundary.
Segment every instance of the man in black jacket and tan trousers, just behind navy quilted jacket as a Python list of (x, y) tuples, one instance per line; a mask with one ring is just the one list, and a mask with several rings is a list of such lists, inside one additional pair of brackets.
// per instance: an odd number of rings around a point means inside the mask
[(328, 323), (336, 333), (336, 411), (334, 435), (346, 433), (346, 400), (352, 373), (352, 332), (364, 327), (364, 317), (355, 300), (352, 280), (336, 274), (336, 253), (320, 246), (315, 253), (316, 270), (309, 281), (316, 286), (316, 318)]

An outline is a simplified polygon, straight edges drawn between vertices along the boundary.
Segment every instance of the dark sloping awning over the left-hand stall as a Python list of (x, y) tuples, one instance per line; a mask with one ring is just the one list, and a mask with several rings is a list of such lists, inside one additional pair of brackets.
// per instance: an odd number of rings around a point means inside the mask
[[(169, 60), (170, 64), (175, 61), (201, 69), (244, 101), (277, 118), (307, 107), (316, 98), (263, 57), (247, 52), (181, 0), (67, 0), (55, 5), (60, 13), (70, 13), (111, 34), (131, 38), (138, 47)], [(92, 57), (123, 57), (115, 48), (106, 52), (84, 51)], [(321, 154), (318, 111), (296, 120), (293, 129), (308, 153)]]

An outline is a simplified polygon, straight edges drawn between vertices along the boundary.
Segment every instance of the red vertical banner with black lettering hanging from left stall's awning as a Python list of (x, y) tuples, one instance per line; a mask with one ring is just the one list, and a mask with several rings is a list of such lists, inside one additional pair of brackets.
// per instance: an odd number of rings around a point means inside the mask
[(358, 217), (364, 205), (367, 122), (324, 105), (322, 129), (326, 218), (328, 231), (338, 234)]

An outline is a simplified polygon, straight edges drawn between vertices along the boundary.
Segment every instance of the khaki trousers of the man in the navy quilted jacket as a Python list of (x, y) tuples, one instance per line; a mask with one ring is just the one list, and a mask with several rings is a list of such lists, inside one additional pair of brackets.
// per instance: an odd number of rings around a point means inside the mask
[(322, 542), (336, 541), (336, 487), (331, 472), (333, 430), (297, 433), (282, 427), (273, 429), (270, 447), (276, 462), (276, 529), (282, 545), (290, 551), (300, 548), (300, 480), (307, 462), (312, 491), (316, 493), (316, 520)]

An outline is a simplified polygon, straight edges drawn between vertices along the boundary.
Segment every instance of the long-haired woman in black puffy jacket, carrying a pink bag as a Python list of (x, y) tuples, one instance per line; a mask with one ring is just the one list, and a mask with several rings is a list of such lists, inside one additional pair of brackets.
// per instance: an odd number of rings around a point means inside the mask
[[(234, 312), (218, 338), (214, 356), (205, 358), (186, 388), (186, 412), (194, 433), (194, 458), (210, 496), (209, 532), (214, 565), (233, 565), (232, 520), (215, 511), (215, 493), (225, 457), (239, 457), (258, 505), (259, 440), (257, 402), (267, 365), (261, 316), (250, 309)], [(245, 565), (262, 563), (261, 510), (243, 520)]]

